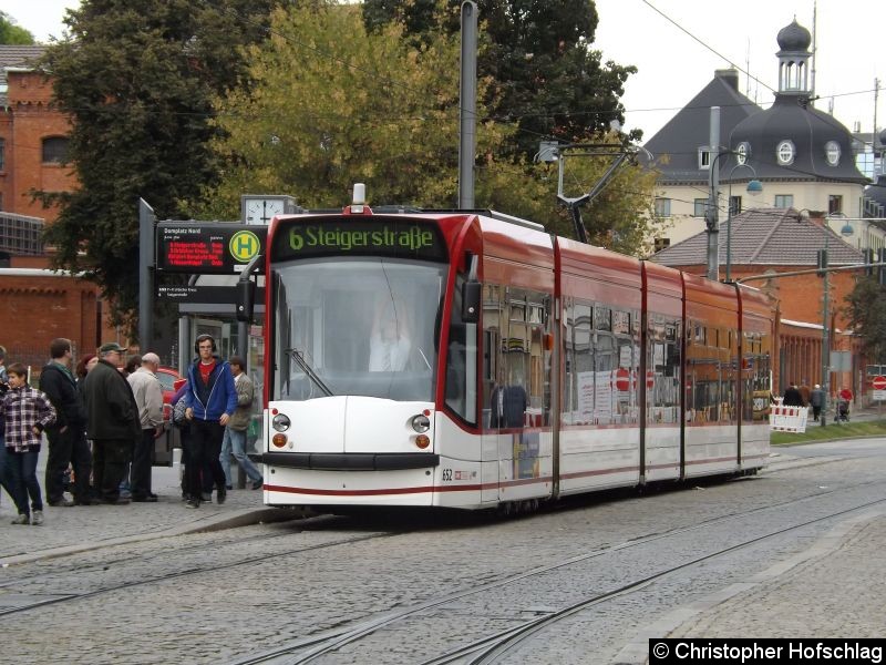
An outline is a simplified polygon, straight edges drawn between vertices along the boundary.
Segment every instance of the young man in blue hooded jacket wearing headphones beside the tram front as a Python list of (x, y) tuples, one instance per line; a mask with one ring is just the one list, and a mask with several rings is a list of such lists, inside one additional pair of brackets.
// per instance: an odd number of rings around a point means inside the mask
[(188, 508), (199, 508), (202, 500), (212, 500), (212, 492), (204, 494), (204, 473), (213, 478), (216, 501), (225, 502), (225, 472), (218, 457), (225, 426), (237, 409), (234, 375), (230, 365), (216, 355), (213, 336), (200, 335), (194, 348), (198, 357), (188, 367), (188, 390), (184, 396), (185, 418), (190, 422), (190, 443), (185, 468)]

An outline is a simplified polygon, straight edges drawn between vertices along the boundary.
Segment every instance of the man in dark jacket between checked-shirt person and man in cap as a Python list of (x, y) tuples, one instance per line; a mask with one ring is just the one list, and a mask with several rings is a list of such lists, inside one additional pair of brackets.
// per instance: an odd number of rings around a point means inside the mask
[[(50, 362), (40, 372), (40, 390), (55, 407), (55, 423), (47, 428), (47, 502), (50, 505), (91, 505), (92, 459), (86, 443), (86, 410), (71, 374), (71, 340), (60, 337), (49, 345)], [(64, 472), (74, 468), (74, 500), (64, 498)]]

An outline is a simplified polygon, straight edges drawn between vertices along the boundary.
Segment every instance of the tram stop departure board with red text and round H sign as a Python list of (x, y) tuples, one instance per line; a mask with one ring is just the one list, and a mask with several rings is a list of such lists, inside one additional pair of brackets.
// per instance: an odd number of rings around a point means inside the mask
[(267, 229), (245, 224), (161, 222), (156, 237), (158, 270), (236, 275), (262, 253)]

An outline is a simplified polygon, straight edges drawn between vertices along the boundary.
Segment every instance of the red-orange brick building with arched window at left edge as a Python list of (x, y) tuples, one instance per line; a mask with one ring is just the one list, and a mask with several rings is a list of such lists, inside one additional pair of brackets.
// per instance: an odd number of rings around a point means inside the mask
[(8, 360), (42, 367), (49, 344), (69, 337), (81, 352), (117, 339), (99, 288), (49, 270), (41, 233), (58, 217), (32, 192), (76, 186), (64, 165), (71, 124), (52, 103), (52, 82), (33, 69), (43, 47), (0, 45), (0, 345)]

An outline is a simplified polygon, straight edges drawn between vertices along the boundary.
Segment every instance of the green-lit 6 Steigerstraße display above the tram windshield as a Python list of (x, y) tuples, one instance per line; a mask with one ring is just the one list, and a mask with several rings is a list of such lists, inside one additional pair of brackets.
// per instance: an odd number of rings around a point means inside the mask
[(330, 255), (447, 259), (440, 229), (410, 218), (295, 219), (274, 236), (272, 260)]

